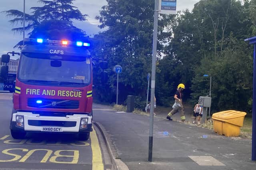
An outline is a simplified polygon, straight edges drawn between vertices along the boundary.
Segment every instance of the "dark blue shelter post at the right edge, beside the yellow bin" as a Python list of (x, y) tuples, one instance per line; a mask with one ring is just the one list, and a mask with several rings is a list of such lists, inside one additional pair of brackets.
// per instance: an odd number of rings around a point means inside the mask
[(252, 160), (256, 160), (256, 44), (253, 53), (253, 93), (252, 93)]

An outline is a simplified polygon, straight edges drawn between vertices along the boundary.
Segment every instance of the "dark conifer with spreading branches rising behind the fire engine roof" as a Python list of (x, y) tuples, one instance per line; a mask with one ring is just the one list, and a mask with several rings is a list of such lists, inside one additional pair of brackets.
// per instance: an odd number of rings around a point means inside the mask
[[(85, 21), (87, 15), (81, 14), (77, 7), (72, 6), (74, 0), (39, 0), (42, 7), (32, 7), (32, 14), (25, 14), (25, 31), (30, 38), (40, 36), (45, 39), (60, 40), (63, 38), (75, 41), (84, 39), (84, 31), (73, 25), (74, 20)], [(23, 12), (19, 10), (4, 11), (8, 17), (16, 17), (11, 24), (23, 23)], [(12, 31), (22, 33), (23, 27), (13, 28)], [(22, 44), (20, 41), (15, 47)]]

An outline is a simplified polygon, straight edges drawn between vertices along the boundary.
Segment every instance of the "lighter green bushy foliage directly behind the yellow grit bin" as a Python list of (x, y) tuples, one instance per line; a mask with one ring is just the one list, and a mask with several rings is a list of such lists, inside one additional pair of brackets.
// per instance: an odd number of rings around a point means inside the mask
[(212, 76), (212, 108), (213, 111), (224, 109), (238, 109), (250, 111), (250, 97), (252, 96), (252, 57), (244, 51), (248, 45), (230, 37), (228, 47), (224, 49), (222, 57), (208, 56), (201, 61), (196, 69), (196, 76), (192, 80), (192, 100), (196, 102), (199, 96), (209, 93), (209, 77)]

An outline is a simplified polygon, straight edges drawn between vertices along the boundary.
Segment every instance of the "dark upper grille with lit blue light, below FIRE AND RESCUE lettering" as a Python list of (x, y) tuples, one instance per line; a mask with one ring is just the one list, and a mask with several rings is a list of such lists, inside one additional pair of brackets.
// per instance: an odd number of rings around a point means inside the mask
[(79, 101), (78, 100), (28, 98), (28, 107), (51, 108), (51, 109), (78, 109)]

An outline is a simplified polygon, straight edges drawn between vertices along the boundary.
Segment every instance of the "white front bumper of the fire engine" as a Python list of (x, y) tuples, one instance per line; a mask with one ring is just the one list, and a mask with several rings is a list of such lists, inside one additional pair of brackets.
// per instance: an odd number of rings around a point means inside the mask
[[(22, 115), (24, 117), (24, 127), (18, 127), (16, 125), (16, 115)], [(87, 126), (84, 129), (80, 129), (81, 118), (86, 117), (88, 118)], [(66, 115), (66, 117), (40, 116), (31, 112), (19, 111), (12, 114), (10, 129), (14, 131), (60, 133), (42, 131), (43, 127), (61, 127), (61, 133), (86, 133), (92, 131), (92, 117), (85, 114)]]

